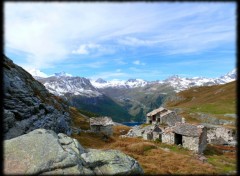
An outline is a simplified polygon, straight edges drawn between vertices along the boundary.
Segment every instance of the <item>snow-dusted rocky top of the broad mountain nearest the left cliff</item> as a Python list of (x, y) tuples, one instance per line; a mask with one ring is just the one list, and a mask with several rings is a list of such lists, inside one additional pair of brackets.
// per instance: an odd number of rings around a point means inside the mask
[(83, 77), (57, 75), (38, 79), (38, 81), (55, 95), (64, 95), (67, 93), (87, 97), (97, 97), (102, 95), (94, 86), (92, 86), (89, 79)]

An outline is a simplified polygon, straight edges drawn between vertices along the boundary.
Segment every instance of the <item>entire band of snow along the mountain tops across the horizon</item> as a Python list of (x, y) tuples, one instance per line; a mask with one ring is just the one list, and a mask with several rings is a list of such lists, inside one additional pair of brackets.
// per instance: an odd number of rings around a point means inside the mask
[[(30, 71), (29, 71), (30, 72)], [(144, 87), (145, 85), (151, 84), (163, 84), (172, 86), (176, 92), (180, 92), (186, 90), (193, 86), (211, 86), (211, 85), (219, 85), (226, 84), (228, 82), (232, 82), (236, 80), (237, 70), (234, 69), (231, 72), (227, 73), (224, 76), (219, 78), (203, 78), (203, 77), (193, 77), (193, 78), (184, 78), (179, 77), (177, 75), (171, 76), (168, 79), (163, 81), (144, 81), (142, 79), (129, 79), (127, 81), (124, 80), (111, 80), (105, 81), (101, 78), (97, 80), (87, 79), (83, 77), (73, 77), (72, 75), (61, 72), (55, 73), (54, 75), (47, 77), (46, 74), (40, 71), (32, 71), (32, 75), (40, 82), (44, 84), (44, 86), (55, 95), (64, 95), (66, 93), (71, 93), (74, 95), (84, 95), (90, 97), (101, 96), (102, 94), (98, 91), (98, 89), (104, 88), (136, 88), (136, 87)], [(42, 78), (40, 78), (42, 77)]]

